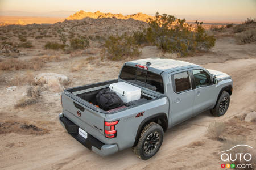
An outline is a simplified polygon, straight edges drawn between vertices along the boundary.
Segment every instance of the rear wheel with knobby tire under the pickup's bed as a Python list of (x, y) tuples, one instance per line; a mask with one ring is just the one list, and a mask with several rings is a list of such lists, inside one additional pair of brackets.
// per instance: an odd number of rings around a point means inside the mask
[(163, 142), (163, 128), (155, 122), (151, 122), (141, 132), (139, 141), (132, 148), (138, 158), (147, 160), (154, 156)]

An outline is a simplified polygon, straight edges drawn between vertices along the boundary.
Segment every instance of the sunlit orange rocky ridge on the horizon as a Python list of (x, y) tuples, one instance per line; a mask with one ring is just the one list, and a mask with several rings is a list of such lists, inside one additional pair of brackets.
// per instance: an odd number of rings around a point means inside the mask
[(80, 20), (84, 18), (93, 18), (93, 19), (99, 19), (99, 18), (117, 18), (117, 19), (135, 19), (140, 20), (143, 22), (148, 22), (150, 18), (154, 18), (154, 16), (150, 16), (147, 14), (137, 13), (137, 14), (131, 14), (131, 15), (122, 15), (122, 14), (112, 14), (112, 13), (102, 13), (100, 11), (97, 12), (85, 12), (85, 11), (79, 11), (76, 12), (73, 15), (70, 15), (67, 20)]

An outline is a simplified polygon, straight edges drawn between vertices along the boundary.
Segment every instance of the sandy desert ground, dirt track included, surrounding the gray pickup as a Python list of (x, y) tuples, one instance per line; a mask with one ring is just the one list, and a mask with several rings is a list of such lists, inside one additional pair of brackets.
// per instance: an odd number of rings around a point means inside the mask
[[(109, 28), (103, 23), (108, 23), (106, 20), (87, 19), (87, 23), (90, 23), (88, 20), (96, 22), (96, 26), (86, 28), (89, 35), (92, 33), (94, 36), (101, 35), (106, 30), (123, 31), (122, 24), (130, 22), (109, 19), (108, 22), (119, 24), (116, 28)], [(71, 22), (59, 25), (65, 25), (64, 29), (67, 30)], [(141, 21), (134, 25), (138, 23), (143, 25)], [(125, 29), (136, 30), (134, 25)], [(55, 26), (51, 26), (49, 30), (53, 30)], [(97, 29), (98, 27), (101, 29)], [(73, 29), (82, 33), (80, 28)], [(11, 34), (10, 32), (8, 33)], [(40, 35), (36, 32), (34, 36), (36, 34)], [(19, 54), (0, 56), (1, 62), (8, 59), (14, 59), (15, 62), (43, 59), (43, 62), (40, 60), (42, 65), (34, 69), (2, 70), (0, 73), (0, 169), (221, 169), (222, 162), (218, 152), (222, 151), (222, 146), (228, 139), (239, 136), (247, 145), (255, 148), (256, 122), (245, 122), (244, 118), (246, 114), (256, 111), (256, 44), (238, 45), (229, 29), (226, 32), (216, 32), (214, 36), (217, 38), (216, 45), (208, 52), (183, 58), (163, 54), (156, 46), (143, 46), (140, 49), (142, 53), (136, 59), (180, 59), (207, 69), (223, 71), (232, 76), (234, 83), (230, 106), (224, 116), (213, 117), (207, 111), (167, 130), (158, 154), (146, 161), (138, 159), (131, 149), (101, 157), (82, 146), (59, 124), (59, 113), (62, 111), (61, 91), (52, 91), (48, 86), (34, 84), (31, 80), (40, 73), (57, 73), (69, 79), (60, 88), (101, 82), (117, 78), (122, 64), (135, 58), (122, 61), (102, 59), (101, 47), (97, 41), (92, 42), (85, 50), (69, 54), (46, 50), (42, 45), (55, 39), (54, 36), (39, 40), (27, 36), (34, 45), (33, 48), (19, 48)], [(18, 38), (14, 36), (7, 40), (15, 43)], [(27, 88), (35, 85), (40, 86), (41, 91), (36, 101), (18, 105), (26, 97)], [(207, 127), (213, 121), (224, 122), (226, 125), (222, 140), (213, 139), (207, 133)]]

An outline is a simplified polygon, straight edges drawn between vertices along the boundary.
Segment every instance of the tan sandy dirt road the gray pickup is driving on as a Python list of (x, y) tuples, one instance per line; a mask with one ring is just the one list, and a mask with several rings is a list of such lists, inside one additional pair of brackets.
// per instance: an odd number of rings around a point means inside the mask
[[(52, 109), (51, 112), (48, 111), (47, 107), (54, 107), (48, 104), (45, 110), (38, 111), (38, 113), (21, 116), (24, 111), (16, 111), (17, 113), (13, 114), (13, 118), (23, 117), (27, 121), (33, 120), (33, 115), (37, 118), (48, 116), (52, 122), (42, 121), (40, 124), (46, 125), (50, 133), (45, 135), (17, 133), (1, 135), (0, 168), (109, 169), (111, 167), (111, 169), (154, 169), (155, 165), (164, 169), (184, 167), (180, 163), (172, 162), (172, 156), (175, 156), (175, 159), (184, 160), (184, 164), (192, 164), (192, 162), (189, 162), (190, 159), (184, 157), (184, 155), (179, 156), (177, 153), (189, 143), (203, 138), (205, 128), (210, 122), (227, 120), (236, 114), (255, 111), (256, 109), (256, 59), (238, 59), (224, 63), (208, 63), (203, 66), (224, 71), (232, 76), (234, 88), (228, 112), (222, 117), (212, 117), (209, 112), (205, 112), (168, 130), (164, 134), (163, 145), (154, 158), (147, 161), (140, 160), (130, 149), (108, 157), (94, 154), (64, 132), (57, 118), (57, 113), (61, 112), (60, 107)], [(37, 112), (36, 109), (34, 111)], [(7, 113), (1, 112), (0, 116), (7, 117)], [(13, 143), (13, 145), (10, 145), (10, 143)], [(207, 150), (202, 154), (210, 156)], [(192, 156), (192, 154), (187, 156)], [(166, 160), (170, 161), (166, 162)], [(164, 165), (166, 163), (167, 167)], [(148, 164), (151, 166), (147, 166)]]

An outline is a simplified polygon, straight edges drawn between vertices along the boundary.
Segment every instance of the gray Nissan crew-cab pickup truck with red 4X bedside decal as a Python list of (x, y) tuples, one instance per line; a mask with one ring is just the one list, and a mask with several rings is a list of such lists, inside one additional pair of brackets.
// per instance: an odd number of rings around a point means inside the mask
[[(99, 91), (126, 82), (141, 88), (140, 103), (104, 111)], [(82, 145), (102, 156), (132, 147), (141, 159), (158, 152), (168, 128), (210, 109), (226, 113), (233, 81), (220, 71), (173, 59), (126, 62), (118, 79), (69, 88), (61, 94), (61, 125)]]

